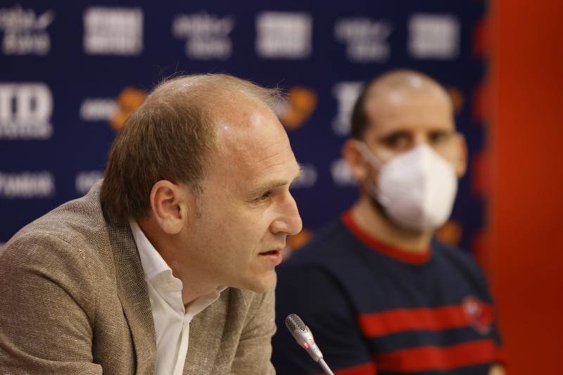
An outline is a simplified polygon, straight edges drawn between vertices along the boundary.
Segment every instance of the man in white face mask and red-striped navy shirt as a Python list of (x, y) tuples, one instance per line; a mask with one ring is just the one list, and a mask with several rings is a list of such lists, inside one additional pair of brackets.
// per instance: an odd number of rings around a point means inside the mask
[[(503, 374), (483, 275), (433, 239), (467, 162), (447, 91), (407, 70), (373, 80), (343, 157), (360, 197), (279, 268), (278, 326), (300, 315), (335, 374)], [(277, 373), (319, 373), (292, 340), (274, 336)]]

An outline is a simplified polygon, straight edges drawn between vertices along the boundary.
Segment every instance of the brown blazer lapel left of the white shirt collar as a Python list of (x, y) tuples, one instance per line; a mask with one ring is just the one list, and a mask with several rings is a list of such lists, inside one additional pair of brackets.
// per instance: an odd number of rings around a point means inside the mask
[(129, 226), (108, 224), (108, 232), (115, 257), (118, 295), (134, 343), (136, 374), (154, 374), (156, 333), (139, 251)]

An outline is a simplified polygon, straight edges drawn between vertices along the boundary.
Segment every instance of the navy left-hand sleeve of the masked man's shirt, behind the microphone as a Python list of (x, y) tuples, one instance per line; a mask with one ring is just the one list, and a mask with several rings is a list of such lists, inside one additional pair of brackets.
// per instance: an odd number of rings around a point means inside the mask
[(329, 272), (315, 266), (282, 265), (276, 292), (277, 334), (272, 362), (279, 375), (321, 374), (322, 369), (293, 339), (285, 326), (297, 314), (310, 328), (335, 374), (376, 373), (369, 348), (358, 329), (356, 313), (346, 292)]

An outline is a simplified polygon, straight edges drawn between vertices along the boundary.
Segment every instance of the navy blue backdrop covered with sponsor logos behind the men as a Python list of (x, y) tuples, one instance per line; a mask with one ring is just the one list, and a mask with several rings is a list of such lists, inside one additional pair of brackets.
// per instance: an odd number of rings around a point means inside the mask
[[(47, 4), (51, 3), (51, 4)], [(243, 4), (241, 4), (243, 3)], [(469, 144), (450, 243), (478, 243), (485, 201), (483, 1), (3, 1), (0, 246), (101, 177), (127, 113), (175, 72), (227, 72), (289, 93), (278, 109), (304, 166), (294, 196), (315, 231), (353, 202), (341, 164), (362, 82), (436, 77)], [(308, 233), (305, 231), (305, 233)]]

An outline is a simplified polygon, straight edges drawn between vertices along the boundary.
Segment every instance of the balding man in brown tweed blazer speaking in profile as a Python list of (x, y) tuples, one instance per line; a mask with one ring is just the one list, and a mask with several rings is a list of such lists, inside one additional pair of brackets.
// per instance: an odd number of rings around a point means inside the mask
[(274, 267), (301, 230), (276, 93), (160, 84), (103, 182), (0, 254), (1, 374), (273, 374)]

